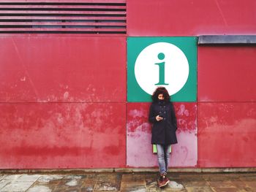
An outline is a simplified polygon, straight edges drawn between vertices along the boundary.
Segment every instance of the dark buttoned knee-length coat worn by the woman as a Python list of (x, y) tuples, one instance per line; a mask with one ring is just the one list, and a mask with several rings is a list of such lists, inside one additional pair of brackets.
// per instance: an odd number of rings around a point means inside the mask
[[(163, 120), (156, 120), (157, 115), (162, 115)], [(171, 102), (158, 101), (151, 104), (149, 122), (153, 123), (151, 144), (170, 145), (177, 143), (177, 120)]]

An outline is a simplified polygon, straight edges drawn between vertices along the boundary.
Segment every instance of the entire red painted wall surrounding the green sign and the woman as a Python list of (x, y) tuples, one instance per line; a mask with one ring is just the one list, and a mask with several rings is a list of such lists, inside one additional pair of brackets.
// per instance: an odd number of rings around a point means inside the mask
[[(232, 9), (230, 9), (232, 7)], [(127, 0), (127, 37), (256, 34), (256, 3)], [(127, 37), (0, 36), (0, 169), (154, 167), (148, 102), (127, 101)], [(170, 166), (256, 166), (255, 46), (198, 46)]]

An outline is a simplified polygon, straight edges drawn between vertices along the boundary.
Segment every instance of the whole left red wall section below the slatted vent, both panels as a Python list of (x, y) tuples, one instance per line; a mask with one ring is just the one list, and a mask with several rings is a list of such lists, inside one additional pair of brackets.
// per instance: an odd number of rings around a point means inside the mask
[(1, 168), (126, 165), (126, 38), (0, 42)]

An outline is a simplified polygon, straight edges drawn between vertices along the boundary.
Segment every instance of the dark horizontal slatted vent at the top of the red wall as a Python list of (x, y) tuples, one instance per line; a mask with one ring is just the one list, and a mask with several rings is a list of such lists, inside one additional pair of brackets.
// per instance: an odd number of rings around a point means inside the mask
[(1, 34), (126, 34), (125, 0), (0, 1)]

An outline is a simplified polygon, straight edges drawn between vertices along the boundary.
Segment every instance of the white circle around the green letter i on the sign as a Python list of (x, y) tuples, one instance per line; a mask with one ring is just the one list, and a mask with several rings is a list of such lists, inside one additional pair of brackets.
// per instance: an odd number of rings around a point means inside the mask
[[(158, 58), (163, 53), (165, 58)], [(162, 59), (162, 60), (161, 60)], [(165, 62), (165, 84), (159, 82), (159, 63)], [(140, 88), (152, 95), (154, 90), (165, 87), (170, 96), (183, 88), (189, 77), (189, 62), (186, 55), (176, 45), (167, 42), (157, 42), (144, 48), (135, 61), (135, 78)]]

